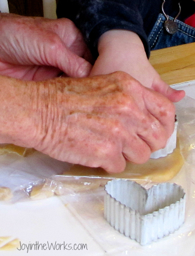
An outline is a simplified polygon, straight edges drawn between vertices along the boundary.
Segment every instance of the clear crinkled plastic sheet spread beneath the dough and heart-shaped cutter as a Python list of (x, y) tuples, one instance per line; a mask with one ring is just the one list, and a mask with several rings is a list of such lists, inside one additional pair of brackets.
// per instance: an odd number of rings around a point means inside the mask
[[(11, 203), (33, 199), (32, 190), (38, 187), (41, 196), (59, 195), (62, 202), (88, 229), (106, 255), (134, 256), (194, 256), (195, 255), (195, 101), (185, 97), (176, 104), (181, 152), (185, 163), (178, 175), (169, 182), (181, 185), (187, 194), (186, 220), (175, 233), (151, 245), (141, 246), (120, 234), (106, 222), (103, 216), (104, 187), (99, 178), (62, 176), (70, 164), (34, 152), (28, 157), (0, 156), (0, 187), (13, 192)], [(105, 180), (104, 180), (105, 181)], [(104, 183), (104, 182), (103, 182)], [(142, 186), (151, 187), (151, 181), (142, 180)]]

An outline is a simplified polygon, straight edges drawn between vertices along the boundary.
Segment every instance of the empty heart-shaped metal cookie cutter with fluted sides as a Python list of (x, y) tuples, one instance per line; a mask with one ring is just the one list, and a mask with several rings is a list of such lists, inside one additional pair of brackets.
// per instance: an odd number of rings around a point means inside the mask
[(115, 179), (105, 190), (105, 219), (140, 245), (168, 236), (184, 223), (185, 192), (175, 183), (160, 183), (146, 190), (134, 181)]

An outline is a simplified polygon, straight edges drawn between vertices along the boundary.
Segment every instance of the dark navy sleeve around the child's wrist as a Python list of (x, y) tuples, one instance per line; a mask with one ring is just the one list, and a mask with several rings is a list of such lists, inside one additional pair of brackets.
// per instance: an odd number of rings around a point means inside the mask
[(113, 29), (138, 34), (149, 57), (149, 45), (139, 11), (140, 0), (58, 0), (58, 17), (73, 20), (95, 58), (100, 36)]

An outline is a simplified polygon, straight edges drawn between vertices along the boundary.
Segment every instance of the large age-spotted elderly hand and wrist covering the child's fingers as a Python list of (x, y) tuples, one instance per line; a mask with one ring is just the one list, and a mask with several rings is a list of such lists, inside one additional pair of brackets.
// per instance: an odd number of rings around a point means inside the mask
[(173, 132), (172, 102), (124, 72), (39, 82), (0, 78), (0, 143), (121, 172), (125, 160), (147, 161)]

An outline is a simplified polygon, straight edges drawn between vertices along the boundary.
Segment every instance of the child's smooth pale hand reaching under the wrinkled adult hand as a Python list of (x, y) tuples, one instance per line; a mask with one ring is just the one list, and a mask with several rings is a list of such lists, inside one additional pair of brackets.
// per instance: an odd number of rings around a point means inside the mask
[(143, 43), (137, 34), (126, 30), (110, 30), (100, 37), (99, 57), (91, 71), (92, 75), (121, 70), (136, 78), (143, 86), (162, 93), (172, 102), (180, 101), (184, 91), (177, 91), (161, 80), (149, 63)]

